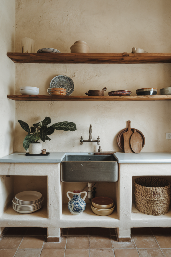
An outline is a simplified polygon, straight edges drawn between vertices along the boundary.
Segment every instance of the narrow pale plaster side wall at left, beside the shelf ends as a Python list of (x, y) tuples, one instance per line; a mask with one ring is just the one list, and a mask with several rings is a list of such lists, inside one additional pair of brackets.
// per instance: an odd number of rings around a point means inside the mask
[(7, 52), (15, 51), (15, 0), (0, 1), (0, 157), (14, 152), (15, 102), (7, 95), (15, 93), (15, 64)]

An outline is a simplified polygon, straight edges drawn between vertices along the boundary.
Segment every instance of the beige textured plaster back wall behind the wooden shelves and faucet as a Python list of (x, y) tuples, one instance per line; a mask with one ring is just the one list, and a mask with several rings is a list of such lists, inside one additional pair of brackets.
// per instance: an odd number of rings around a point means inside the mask
[[(131, 52), (132, 47), (147, 52), (170, 52), (169, 0), (93, 0), (93, 1), (26, 1), (16, 0), (15, 51), (21, 52), (21, 39), (35, 40), (35, 52), (52, 47), (70, 52), (76, 40), (86, 41), (90, 53)], [(40, 95), (47, 95), (52, 78), (65, 74), (75, 84), (73, 95), (85, 95), (90, 89), (107, 87), (109, 91), (127, 89), (136, 95), (142, 87), (160, 88), (170, 85), (171, 64), (16, 64), (16, 89), (21, 86), (39, 87)], [(12, 102), (12, 100), (11, 100)], [(16, 102), (15, 151), (24, 151), (26, 132), (17, 120), (32, 126), (51, 117), (52, 123), (72, 121), (77, 131), (55, 131), (47, 151), (97, 151), (96, 143), (88, 139), (100, 136), (102, 151), (120, 151), (117, 135), (127, 127), (142, 131), (146, 144), (142, 151), (170, 151), (171, 140), (165, 139), (170, 129), (170, 103), (155, 102)]]

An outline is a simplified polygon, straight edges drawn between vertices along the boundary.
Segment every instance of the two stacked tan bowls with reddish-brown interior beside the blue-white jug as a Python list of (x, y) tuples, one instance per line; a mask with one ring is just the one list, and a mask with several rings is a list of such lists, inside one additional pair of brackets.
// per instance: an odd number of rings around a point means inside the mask
[(109, 197), (99, 196), (92, 199), (92, 211), (100, 216), (107, 216), (113, 213), (114, 202)]

